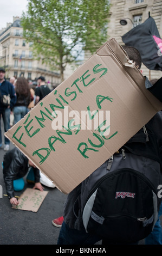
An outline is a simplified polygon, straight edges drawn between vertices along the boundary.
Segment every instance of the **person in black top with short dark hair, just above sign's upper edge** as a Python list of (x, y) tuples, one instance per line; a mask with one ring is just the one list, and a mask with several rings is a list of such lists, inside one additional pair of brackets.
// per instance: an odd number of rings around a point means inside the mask
[(40, 76), (37, 79), (38, 87), (35, 89), (35, 105), (43, 99), (47, 94), (51, 92), (48, 86), (45, 84), (44, 76)]

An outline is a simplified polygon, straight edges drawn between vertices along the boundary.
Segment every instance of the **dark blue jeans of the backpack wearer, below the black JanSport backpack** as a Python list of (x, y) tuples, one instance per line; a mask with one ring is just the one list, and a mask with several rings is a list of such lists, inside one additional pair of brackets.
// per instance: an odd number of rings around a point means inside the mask
[(57, 245), (94, 245), (101, 237), (87, 234), (85, 230), (71, 229), (62, 223)]

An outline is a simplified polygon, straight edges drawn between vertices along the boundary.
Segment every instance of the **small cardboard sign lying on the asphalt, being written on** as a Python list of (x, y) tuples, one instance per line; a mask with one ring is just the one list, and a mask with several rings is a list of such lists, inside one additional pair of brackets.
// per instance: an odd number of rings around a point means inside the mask
[(18, 198), (19, 204), (13, 205), (13, 209), (37, 212), (47, 196), (48, 191), (33, 190), (27, 188)]

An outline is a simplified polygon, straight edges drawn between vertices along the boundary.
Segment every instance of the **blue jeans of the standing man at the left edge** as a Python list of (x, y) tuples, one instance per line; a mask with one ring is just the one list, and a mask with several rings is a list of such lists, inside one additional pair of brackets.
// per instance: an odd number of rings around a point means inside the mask
[[(2, 131), (1, 131), (1, 114), (4, 124), (4, 132), (7, 132), (10, 129), (10, 108), (4, 109), (3, 112), (0, 112), (0, 144), (2, 144)], [(10, 144), (10, 141), (7, 137), (4, 136), (4, 144)]]

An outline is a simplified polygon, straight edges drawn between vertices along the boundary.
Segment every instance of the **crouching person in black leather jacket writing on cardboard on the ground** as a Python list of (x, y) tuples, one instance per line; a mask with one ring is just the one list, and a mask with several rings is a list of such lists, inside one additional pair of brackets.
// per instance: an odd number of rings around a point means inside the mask
[[(29, 166), (32, 168), (28, 173)], [(28, 160), (18, 148), (14, 148), (4, 155), (3, 159), (3, 178), (5, 182), (6, 191), (11, 204), (18, 204), (15, 198), (14, 190), (21, 191), (24, 187), (23, 177), (27, 175), (28, 182), (35, 182), (33, 188), (43, 191), (40, 183), (40, 170)], [(32, 178), (31, 178), (32, 177)]]

